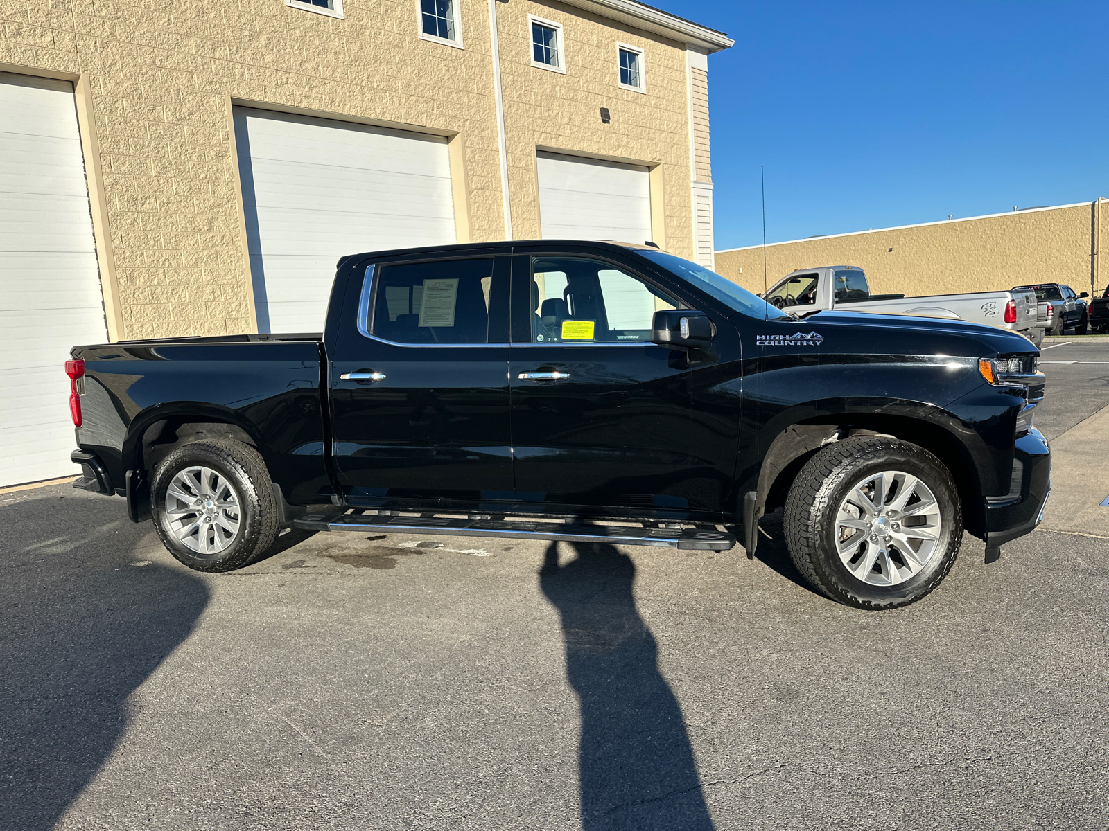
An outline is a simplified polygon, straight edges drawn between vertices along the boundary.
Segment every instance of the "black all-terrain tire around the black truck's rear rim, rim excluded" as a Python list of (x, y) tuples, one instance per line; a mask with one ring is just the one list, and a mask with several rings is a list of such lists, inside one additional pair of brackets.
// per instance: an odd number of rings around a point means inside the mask
[[(217, 552), (204, 553), (183, 542), (180, 532), (190, 517), (187, 514), (184, 519), (171, 516), (166, 506), (166, 494), (174, 478), (197, 468), (214, 471), (223, 478), (216, 481), (230, 485), (235, 495), (237, 527), (230, 540), (221, 541), (225, 547)], [(180, 489), (175, 488), (175, 492)], [(262, 455), (248, 444), (230, 439), (190, 442), (166, 455), (154, 471), (151, 515), (162, 544), (174, 557), (199, 572), (230, 572), (250, 565), (269, 550), (281, 531), (277, 502)]]

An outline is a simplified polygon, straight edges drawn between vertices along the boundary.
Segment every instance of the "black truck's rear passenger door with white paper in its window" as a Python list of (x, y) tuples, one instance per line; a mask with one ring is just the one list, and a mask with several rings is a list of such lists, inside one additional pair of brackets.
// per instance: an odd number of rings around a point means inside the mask
[(329, 345), (333, 453), (350, 504), (512, 499), (508, 256), (375, 264)]

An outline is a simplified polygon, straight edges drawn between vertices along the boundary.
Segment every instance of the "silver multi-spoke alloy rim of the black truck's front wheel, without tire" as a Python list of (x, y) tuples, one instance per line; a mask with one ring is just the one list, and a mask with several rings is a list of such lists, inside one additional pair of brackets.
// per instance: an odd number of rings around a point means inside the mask
[(943, 531), (932, 489), (894, 470), (856, 482), (835, 522), (840, 560), (873, 586), (895, 586), (918, 574), (935, 555)]

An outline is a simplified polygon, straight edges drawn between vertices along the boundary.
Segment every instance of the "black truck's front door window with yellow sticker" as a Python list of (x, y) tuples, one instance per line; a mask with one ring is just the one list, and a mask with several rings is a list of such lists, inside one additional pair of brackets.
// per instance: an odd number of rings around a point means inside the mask
[(620, 268), (594, 259), (532, 260), (532, 343), (644, 343), (660, 309), (678, 301)]

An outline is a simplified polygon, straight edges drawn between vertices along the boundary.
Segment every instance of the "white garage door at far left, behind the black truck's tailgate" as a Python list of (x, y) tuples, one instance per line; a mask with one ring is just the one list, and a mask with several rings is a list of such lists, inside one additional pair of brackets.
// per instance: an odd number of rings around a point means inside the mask
[(62, 365), (105, 340), (73, 88), (0, 72), (0, 485), (77, 474)]

